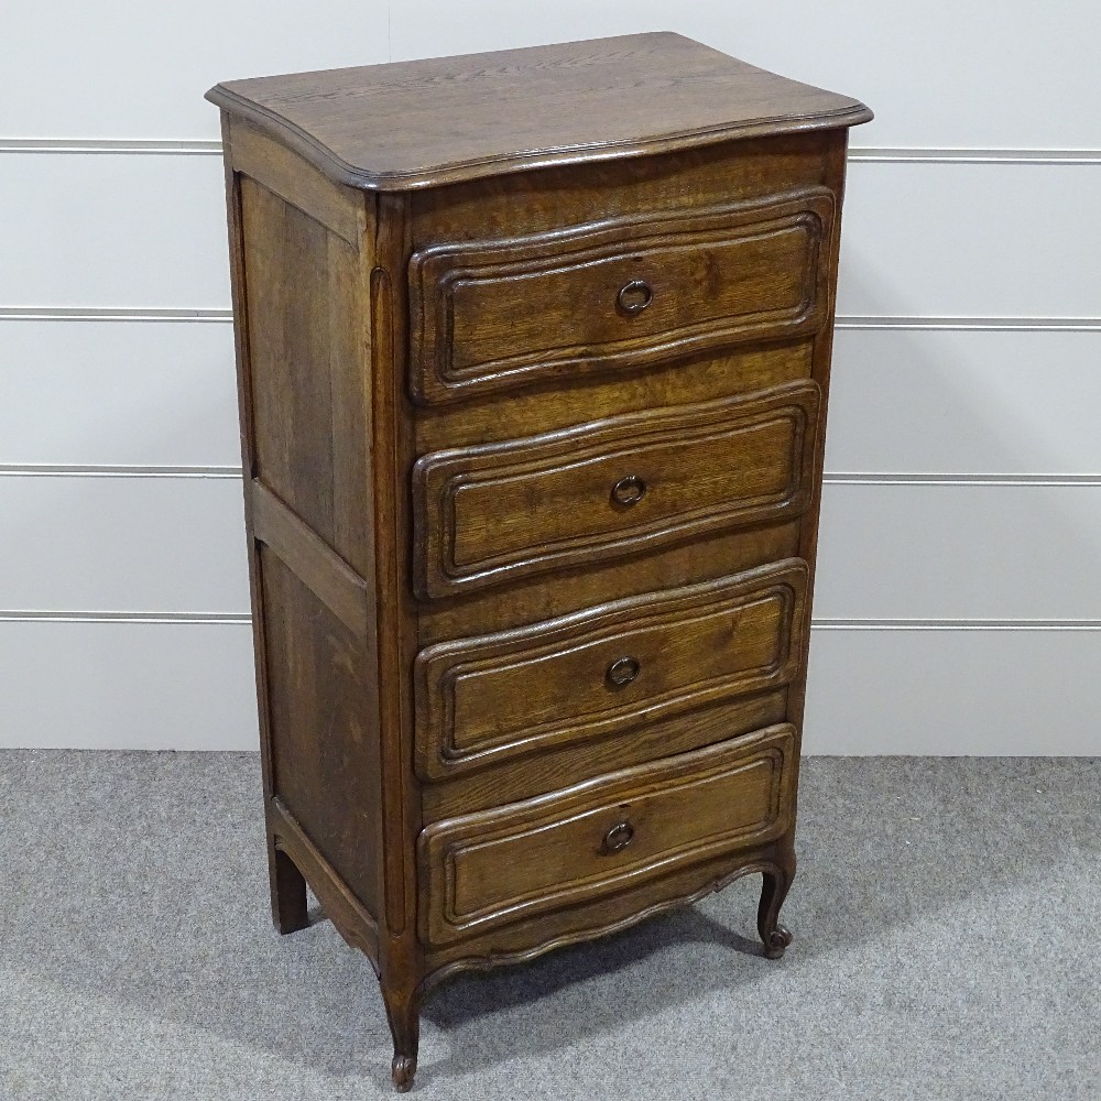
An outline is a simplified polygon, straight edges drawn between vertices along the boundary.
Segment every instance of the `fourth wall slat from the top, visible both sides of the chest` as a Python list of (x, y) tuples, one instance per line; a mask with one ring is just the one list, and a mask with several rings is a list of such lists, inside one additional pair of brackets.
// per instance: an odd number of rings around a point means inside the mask
[[(0, 608), (248, 610), (237, 479), (0, 477)], [(828, 484), (820, 619), (1101, 619), (1097, 486)]]

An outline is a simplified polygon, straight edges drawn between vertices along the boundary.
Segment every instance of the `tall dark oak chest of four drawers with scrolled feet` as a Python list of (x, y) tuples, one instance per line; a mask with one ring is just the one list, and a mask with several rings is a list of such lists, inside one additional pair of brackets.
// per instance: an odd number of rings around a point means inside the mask
[(272, 906), (419, 1004), (793, 831), (847, 128), (673, 34), (219, 85)]

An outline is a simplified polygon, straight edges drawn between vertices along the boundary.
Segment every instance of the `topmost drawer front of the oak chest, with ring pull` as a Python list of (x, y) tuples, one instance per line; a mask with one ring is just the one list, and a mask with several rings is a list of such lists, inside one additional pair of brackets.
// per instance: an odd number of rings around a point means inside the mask
[(410, 262), (414, 401), (817, 331), (833, 194), (624, 218)]

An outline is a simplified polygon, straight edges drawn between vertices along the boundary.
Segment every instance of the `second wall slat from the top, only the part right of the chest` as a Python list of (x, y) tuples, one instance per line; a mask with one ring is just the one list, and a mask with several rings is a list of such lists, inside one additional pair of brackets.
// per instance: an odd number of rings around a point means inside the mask
[(838, 313), (1101, 315), (1099, 165), (852, 164)]

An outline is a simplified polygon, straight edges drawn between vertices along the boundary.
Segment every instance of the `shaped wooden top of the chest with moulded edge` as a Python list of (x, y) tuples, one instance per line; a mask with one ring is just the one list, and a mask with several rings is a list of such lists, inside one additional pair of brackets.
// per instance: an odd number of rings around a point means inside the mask
[(872, 118), (855, 99), (665, 32), (231, 80), (207, 99), (372, 190)]

